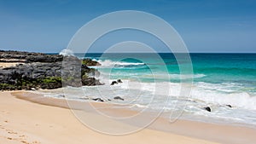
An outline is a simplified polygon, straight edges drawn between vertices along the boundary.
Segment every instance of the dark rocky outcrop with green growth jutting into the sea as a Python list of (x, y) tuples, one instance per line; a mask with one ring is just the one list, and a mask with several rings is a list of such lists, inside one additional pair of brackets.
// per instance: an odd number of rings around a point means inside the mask
[(22, 64), (0, 69), (0, 89), (56, 89), (62, 86), (98, 85), (99, 72), (74, 56), (0, 51), (2, 62)]

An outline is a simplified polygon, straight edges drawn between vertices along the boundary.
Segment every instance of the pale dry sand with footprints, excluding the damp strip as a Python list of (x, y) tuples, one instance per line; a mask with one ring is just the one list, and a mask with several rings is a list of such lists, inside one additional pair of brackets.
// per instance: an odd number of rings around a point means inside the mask
[[(0, 143), (216, 143), (149, 129), (137, 131), (132, 135), (103, 135), (84, 126), (67, 108), (24, 101), (15, 98), (9, 91), (1, 92), (0, 99)], [(96, 123), (98, 120), (96, 115), (87, 114), (94, 119), (93, 123)], [(113, 122), (100, 125), (105, 126), (111, 123)], [(125, 126), (125, 124), (121, 125)]]

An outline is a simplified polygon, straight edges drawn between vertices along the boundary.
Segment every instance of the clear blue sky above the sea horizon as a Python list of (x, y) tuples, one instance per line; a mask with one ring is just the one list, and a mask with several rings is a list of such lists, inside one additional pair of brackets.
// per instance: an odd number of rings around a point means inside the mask
[[(0, 49), (58, 53), (84, 24), (118, 10), (166, 20), (189, 52), (256, 53), (255, 0), (0, 0)], [(108, 48), (115, 38), (131, 40), (134, 33), (113, 33), (91, 52)], [(146, 35), (133, 40), (154, 42)], [(165, 52), (161, 44), (154, 47)]]

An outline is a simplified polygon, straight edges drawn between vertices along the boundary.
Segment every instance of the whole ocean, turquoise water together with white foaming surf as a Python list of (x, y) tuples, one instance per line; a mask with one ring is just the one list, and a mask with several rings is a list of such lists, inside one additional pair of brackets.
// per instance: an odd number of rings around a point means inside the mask
[[(157, 55), (157, 56), (156, 56)], [(192, 72), (181, 73), (187, 60), (160, 54), (76, 54), (91, 58), (104, 85), (64, 88), (69, 99), (88, 97), (104, 100), (120, 96), (125, 101), (108, 101), (152, 112), (180, 112), (178, 118), (224, 124), (256, 126), (256, 54), (190, 54)], [(121, 79), (123, 83), (110, 85)], [(184, 88), (184, 89), (183, 89)], [(189, 90), (183, 93), (182, 90)], [(45, 96), (61, 98), (60, 90)], [(204, 107), (210, 107), (207, 112)], [(166, 117), (169, 117), (166, 115)]]

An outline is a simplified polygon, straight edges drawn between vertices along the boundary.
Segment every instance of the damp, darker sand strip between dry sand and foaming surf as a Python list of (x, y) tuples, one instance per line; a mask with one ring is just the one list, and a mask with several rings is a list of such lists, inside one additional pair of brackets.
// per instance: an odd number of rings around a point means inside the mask
[[(26, 96), (24, 96), (25, 94)], [(69, 108), (66, 100), (43, 97), (42, 95), (34, 94), (27, 91), (15, 91), (12, 92), (12, 95), (15, 95), (16, 98), (19, 98), (21, 100), (32, 101), (33, 103), (38, 103), (44, 106), (64, 107), (66, 109)], [(125, 117), (125, 115), (132, 115), (135, 113), (134, 111), (131, 111), (127, 108), (118, 108), (113, 110), (113, 108), (111, 108), (113, 104), (109, 103), (82, 102), (83, 105), (81, 105), (81, 103), (79, 104), (78, 101), (73, 102), (77, 102), (75, 106), (78, 106), (78, 109), (80, 106), (84, 106), (84, 103), (87, 103), (92, 104), (94, 107), (102, 108), (102, 112), (113, 114), (113, 116), (121, 115)], [(146, 114), (144, 118), (147, 117), (148, 115)], [(155, 120), (154, 123), (149, 125), (146, 129), (157, 130), (175, 135), (189, 136), (205, 141), (217, 141), (220, 143), (253, 143), (253, 141), (256, 141), (256, 138), (254, 138), (254, 135), (256, 135), (256, 130), (253, 128), (224, 124), (210, 124), (184, 119), (177, 119), (177, 121), (170, 124), (168, 119), (160, 117), (157, 118), (157, 120)]]

